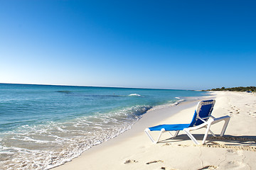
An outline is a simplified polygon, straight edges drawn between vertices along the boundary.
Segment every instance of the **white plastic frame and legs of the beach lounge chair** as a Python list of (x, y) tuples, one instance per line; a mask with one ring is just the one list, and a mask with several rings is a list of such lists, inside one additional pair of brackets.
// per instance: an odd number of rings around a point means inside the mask
[[(197, 110), (196, 110), (196, 113), (197, 113), (197, 118), (202, 120), (203, 123), (201, 123), (200, 125), (196, 125), (196, 126), (193, 126), (193, 127), (188, 127), (188, 128), (184, 128), (183, 131), (186, 133), (186, 135), (188, 135), (188, 137), (196, 144), (196, 145), (199, 145), (199, 142), (196, 140), (195, 137), (193, 137), (193, 135), (191, 134), (190, 131), (193, 131), (193, 130), (198, 130), (198, 129), (201, 129), (201, 128), (206, 128), (206, 132), (205, 132), (205, 135), (203, 136), (203, 141), (202, 141), (202, 145), (206, 142), (206, 138), (208, 136), (208, 132), (210, 132), (211, 135), (213, 135), (214, 137), (216, 137), (216, 135), (210, 130), (210, 125), (214, 125), (215, 123), (219, 123), (220, 121), (225, 121), (224, 125), (223, 125), (223, 128), (220, 132), (220, 137), (222, 137), (225, 133), (225, 130), (227, 129), (228, 127), (228, 123), (229, 123), (229, 120), (230, 120), (230, 116), (228, 115), (225, 115), (225, 116), (222, 116), (220, 118), (214, 118), (212, 115), (209, 115), (208, 117), (206, 118), (200, 118), (198, 113), (201, 109), (201, 106), (203, 104), (203, 101), (200, 101), (198, 102), (198, 106), (197, 106)], [(215, 104), (215, 100), (213, 100), (213, 106)], [(212, 108), (213, 109), (213, 108)], [(204, 119), (208, 119), (208, 120), (204, 120)], [(160, 140), (160, 137), (161, 135), (164, 133), (164, 132), (169, 132), (169, 134), (171, 135), (171, 138), (174, 138), (178, 135), (178, 133), (181, 131), (181, 130), (177, 130), (175, 132), (174, 135), (171, 134), (170, 131), (167, 131), (165, 130), (164, 128), (162, 128), (160, 130), (160, 134), (159, 134), (159, 137), (157, 137), (157, 140), (154, 140), (154, 138), (149, 134), (151, 130), (149, 130), (149, 128), (146, 128), (144, 130), (144, 132), (146, 132), (146, 135), (148, 135), (149, 139), (153, 142), (153, 143), (158, 143), (159, 140)]]

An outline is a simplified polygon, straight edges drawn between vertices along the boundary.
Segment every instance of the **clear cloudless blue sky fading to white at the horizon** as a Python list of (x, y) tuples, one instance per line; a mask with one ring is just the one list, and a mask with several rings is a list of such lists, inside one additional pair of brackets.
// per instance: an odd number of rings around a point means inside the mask
[(256, 1), (0, 0), (0, 83), (256, 86)]

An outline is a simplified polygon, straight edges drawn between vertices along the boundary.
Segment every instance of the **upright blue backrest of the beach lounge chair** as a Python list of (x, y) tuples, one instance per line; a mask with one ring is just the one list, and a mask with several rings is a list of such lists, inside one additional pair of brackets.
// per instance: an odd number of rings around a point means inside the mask
[(203, 120), (208, 120), (208, 116), (210, 116), (210, 114), (213, 111), (214, 104), (215, 104), (215, 100), (198, 102), (197, 109), (193, 115), (193, 119), (189, 127), (201, 125), (203, 121), (200, 120), (199, 118)]

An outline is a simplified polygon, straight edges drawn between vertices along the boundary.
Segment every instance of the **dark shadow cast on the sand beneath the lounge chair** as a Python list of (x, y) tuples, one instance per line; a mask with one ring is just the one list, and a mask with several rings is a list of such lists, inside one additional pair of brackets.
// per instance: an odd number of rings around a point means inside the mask
[[(203, 140), (203, 134), (193, 134), (193, 137), (198, 140), (200, 143), (201, 140)], [(174, 143), (174, 142), (182, 142), (182, 141), (191, 141), (192, 140), (188, 137), (186, 134), (178, 135), (177, 137), (171, 137), (165, 140), (160, 140), (159, 143)], [(247, 146), (256, 146), (256, 136), (249, 136), (249, 135), (242, 135), (242, 136), (234, 136), (234, 135), (224, 135), (223, 137), (220, 137), (216, 135), (216, 137), (213, 137), (212, 135), (208, 135), (206, 139), (206, 143), (208, 144), (210, 142), (225, 142), (225, 145), (247, 145)]]

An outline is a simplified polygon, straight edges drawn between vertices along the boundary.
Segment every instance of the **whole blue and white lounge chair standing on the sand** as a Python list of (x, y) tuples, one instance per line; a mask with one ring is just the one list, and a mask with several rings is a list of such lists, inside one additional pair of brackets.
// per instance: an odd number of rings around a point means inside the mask
[[(228, 126), (228, 122), (230, 120), (230, 116), (226, 115), (220, 118), (214, 118), (212, 115), (210, 115), (213, 111), (213, 106), (215, 104), (215, 100), (208, 100), (208, 101), (200, 101), (198, 102), (198, 106), (197, 109), (193, 115), (193, 119), (191, 121), (190, 124), (174, 124), (174, 125), (157, 125), (151, 128), (146, 128), (145, 132), (146, 135), (149, 136), (149, 139), (154, 142), (157, 143), (160, 140), (161, 134), (163, 132), (168, 131), (170, 134), (170, 131), (176, 131), (174, 135), (171, 134), (171, 137), (176, 137), (178, 135), (178, 132), (180, 130), (183, 130), (184, 132), (186, 132), (186, 135), (188, 135), (188, 137), (196, 144), (198, 145), (198, 141), (196, 140), (195, 137), (193, 137), (193, 135), (191, 134), (191, 130), (198, 130), (201, 128), (206, 128), (206, 132), (205, 135), (203, 137), (203, 142), (202, 144), (204, 144), (206, 142), (206, 138), (208, 135), (208, 132), (210, 132), (214, 137), (215, 134), (210, 130), (210, 125), (213, 125), (215, 123), (218, 123), (222, 120), (225, 121), (224, 125), (223, 125), (223, 129), (220, 132), (220, 136), (223, 136), (225, 133), (225, 130)], [(153, 137), (151, 137), (151, 135), (149, 134), (150, 131), (160, 131), (159, 137), (157, 140), (154, 140)]]

